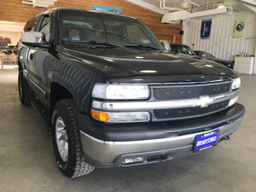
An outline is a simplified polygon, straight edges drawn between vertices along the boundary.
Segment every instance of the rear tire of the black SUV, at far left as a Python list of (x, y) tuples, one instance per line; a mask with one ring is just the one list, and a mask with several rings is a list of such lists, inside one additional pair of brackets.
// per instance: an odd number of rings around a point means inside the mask
[(24, 106), (29, 106), (31, 102), (30, 90), (21, 71), (19, 72), (19, 75), (18, 75), (18, 86), (19, 86), (19, 96), (20, 96), (21, 104)]

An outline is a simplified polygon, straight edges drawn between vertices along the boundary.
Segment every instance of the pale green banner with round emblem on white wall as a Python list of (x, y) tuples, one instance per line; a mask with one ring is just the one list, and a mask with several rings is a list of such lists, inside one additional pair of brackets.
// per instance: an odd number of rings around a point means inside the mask
[(233, 22), (232, 38), (243, 38), (247, 14), (236, 14)]

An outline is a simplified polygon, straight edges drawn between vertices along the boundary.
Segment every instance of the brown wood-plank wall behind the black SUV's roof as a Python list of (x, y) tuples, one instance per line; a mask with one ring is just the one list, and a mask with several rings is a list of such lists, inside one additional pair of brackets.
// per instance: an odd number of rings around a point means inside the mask
[[(179, 34), (183, 27), (181, 24), (162, 24), (162, 15), (125, 0), (59, 0), (55, 6), (49, 9), (55, 7), (93, 9), (94, 4), (123, 9), (123, 15), (130, 15), (143, 20), (160, 40), (182, 43), (182, 35)], [(21, 3), (21, 0), (0, 1), (0, 20), (24, 23), (34, 15), (44, 11), (45, 9), (32, 8), (30, 4)]]

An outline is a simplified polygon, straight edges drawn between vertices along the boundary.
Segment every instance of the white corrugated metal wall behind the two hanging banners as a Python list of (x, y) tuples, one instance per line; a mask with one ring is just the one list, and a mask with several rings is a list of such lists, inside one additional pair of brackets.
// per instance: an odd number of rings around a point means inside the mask
[[(234, 61), (242, 52), (255, 54), (256, 15), (247, 13), (244, 38), (232, 38), (233, 20), (236, 14), (223, 14), (201, 17), (194, 21), (183, 22), (183, 44), (195, 50), (204, 50), (218, 58)], [(201, 39), (201, 20), (212, 19), (211, 36)], [(194, 44), (194, 45), (193, 45)]]

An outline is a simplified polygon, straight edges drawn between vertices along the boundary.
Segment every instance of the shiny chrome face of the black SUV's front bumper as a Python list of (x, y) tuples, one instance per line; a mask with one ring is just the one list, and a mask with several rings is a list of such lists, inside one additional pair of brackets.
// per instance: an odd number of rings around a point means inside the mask
[[(230, 136), (233, 131), (241, 124), (242, 116), (230, 124), (216, 127), (210, 131), (201, 131), (193, 134), (166, 137), (159, 139), (150, 139), (142, 141), (125, 141), (125, 142), (111, 142), (102, 141), (91, 137), (90, 135), (80, 131), (81, 143), (84, 153), (90, 157), (91, 160), (96, 160), (99, 163), (109, 164), (116, 158), (123, 154), (135, 154), (143, 152), (152, 152), (160, 150), (178, 150), (178, 148), (189, 148), (185, 153), (189, 154), (193, 151), (195, 137), (207, 132), (219, 130), (218, 142), (226, 136)], [(186, 154), (183, 154), (185, 156)], [(170, 159), (174, 159), (170, 157)]]

